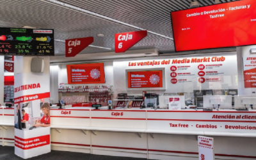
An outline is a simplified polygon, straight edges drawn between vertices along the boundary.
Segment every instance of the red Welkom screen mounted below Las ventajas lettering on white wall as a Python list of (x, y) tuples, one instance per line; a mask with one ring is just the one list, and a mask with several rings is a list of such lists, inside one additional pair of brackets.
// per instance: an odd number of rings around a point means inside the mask
[(126, 70), (127, 90), (165, 90), (165, 69)]

